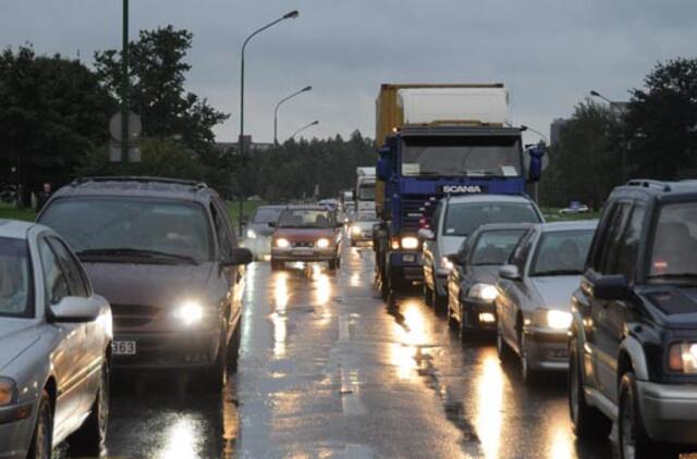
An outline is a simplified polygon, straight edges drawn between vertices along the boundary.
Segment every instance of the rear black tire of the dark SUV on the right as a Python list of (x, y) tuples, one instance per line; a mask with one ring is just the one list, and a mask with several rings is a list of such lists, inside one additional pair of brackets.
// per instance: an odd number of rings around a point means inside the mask
[(596, 407), (586, 402), (583, 375), (578, 358), (577, 345), (572, 340), (568, 345), (568, 413), (574, 434), (579, 439), (607, 438), (612, 430), (612, 421)]

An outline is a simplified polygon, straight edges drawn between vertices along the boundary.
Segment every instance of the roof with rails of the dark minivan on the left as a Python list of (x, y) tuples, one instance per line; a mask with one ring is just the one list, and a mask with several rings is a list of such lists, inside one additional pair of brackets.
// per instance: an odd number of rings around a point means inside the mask
[(207, 202), (217, 193), (204, 183), (176, 178), (83, 177), (60, 188), (51, 199), (84, 196), (151, 197)]

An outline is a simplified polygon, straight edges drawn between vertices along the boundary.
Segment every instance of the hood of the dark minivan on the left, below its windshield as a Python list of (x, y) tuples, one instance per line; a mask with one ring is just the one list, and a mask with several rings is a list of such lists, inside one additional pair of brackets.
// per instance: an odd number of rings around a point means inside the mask
[(95, 293), (112, 305), (163, 306), (207, 293), (215, 264), (83, 262)]

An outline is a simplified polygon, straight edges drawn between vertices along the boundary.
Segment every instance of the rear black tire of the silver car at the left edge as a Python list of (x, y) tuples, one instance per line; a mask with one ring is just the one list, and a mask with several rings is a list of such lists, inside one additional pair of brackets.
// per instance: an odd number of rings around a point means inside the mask
[(105, 362), (101, 367), (99, 390), (93, 402), (89, 417), (83, 425), (68, 438), (70, 450), (80, 456), (99, 456), (107, 443), (109, 426), (109, 404), (111, 400), (111, 372)]

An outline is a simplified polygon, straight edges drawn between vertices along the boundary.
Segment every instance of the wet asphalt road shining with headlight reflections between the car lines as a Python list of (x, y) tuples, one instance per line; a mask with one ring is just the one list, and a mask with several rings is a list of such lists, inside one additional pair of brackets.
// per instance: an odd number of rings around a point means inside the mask
[(611, 458), (577, 443), (563, 376), (523, 387), (493, 342), (462, 346), (414, 291), (386, 306), (372, 252), (337, 273), (248, 270), (240, 370), (222, 396), (181, 376), (113, 382), (109, 456)]

